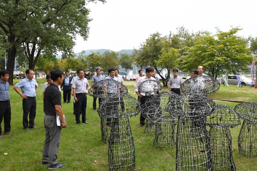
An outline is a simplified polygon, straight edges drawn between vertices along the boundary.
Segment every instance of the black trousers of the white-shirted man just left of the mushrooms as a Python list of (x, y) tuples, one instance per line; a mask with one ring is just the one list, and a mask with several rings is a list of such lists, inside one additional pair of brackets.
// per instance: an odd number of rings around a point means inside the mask
[(76, 123), (80, 123), (80, 111), (82, 112), (82, 122), (86, 122), (86, 94), (76, 94), (78, 101), (75, 102), (75, 118)]

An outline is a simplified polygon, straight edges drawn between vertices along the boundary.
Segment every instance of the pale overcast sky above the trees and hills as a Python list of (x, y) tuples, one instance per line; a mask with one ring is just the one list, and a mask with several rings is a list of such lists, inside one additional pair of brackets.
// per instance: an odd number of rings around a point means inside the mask
[(184, 25), (190, 32), (240, 26), (240, 36), (257, 36), (256, 1), (249, 0), (106, 0), (90, 3), (89, 38), (75, 40), (74, 52), (88, 49), (138, 49), (152, 33), (163, 36)]

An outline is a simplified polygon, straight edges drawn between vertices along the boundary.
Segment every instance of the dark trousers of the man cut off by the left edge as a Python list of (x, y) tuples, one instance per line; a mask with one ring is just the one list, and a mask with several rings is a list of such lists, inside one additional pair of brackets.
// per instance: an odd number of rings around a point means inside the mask
[(4, 132), (11, 131), (11, 105), (10, 101), (0, 101), (0, 135), (2, 135), (2, 121), (4, 118), (5, 130)]

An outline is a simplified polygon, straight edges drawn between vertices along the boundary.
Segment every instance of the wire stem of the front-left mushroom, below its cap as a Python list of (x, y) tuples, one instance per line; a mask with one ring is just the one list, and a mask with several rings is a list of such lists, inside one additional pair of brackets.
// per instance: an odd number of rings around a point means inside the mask
[(135, 147), (129, 118), (114, 118), (109, 142), (110, 170), (135, 170)]

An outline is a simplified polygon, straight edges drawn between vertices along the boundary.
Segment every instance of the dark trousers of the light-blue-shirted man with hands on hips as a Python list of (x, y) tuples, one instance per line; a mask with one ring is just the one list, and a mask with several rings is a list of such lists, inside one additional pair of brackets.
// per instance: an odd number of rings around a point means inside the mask
[[(22, 108), (23, 108), (23, 129), (33, 128), (34, 127), (34, 119), (36, 117), (36, 108), (37, 102), (36, 98), (27, 98), (22, 100)], [(28, 121), (29, 115), (29, 121)]]

